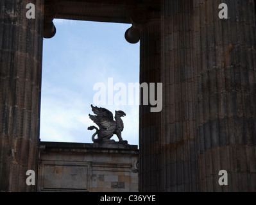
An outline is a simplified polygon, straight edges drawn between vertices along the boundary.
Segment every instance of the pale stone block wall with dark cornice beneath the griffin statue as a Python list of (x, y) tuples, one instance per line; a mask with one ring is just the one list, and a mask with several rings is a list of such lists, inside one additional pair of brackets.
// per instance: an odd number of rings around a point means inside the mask
[(38, 192), (138, 192), (137, 145), (41, 142)]

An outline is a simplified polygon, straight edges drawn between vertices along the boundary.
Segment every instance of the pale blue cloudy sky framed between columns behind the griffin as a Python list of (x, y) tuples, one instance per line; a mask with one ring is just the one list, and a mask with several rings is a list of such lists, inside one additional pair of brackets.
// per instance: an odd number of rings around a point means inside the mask
[[(124, 39), (130, 24), (55, 19), (56, 35), (44, 38), (40, 140), (92, 143), (89, 119), (96, 83), (139, 82), (139, 43)], [(115, 94), (116, 91), (114, 91)], [(127, 103), (128, 104), (128, 103)], [(123, 110), (122, 136), (139, 143), (139, 106), (104, 105)], [(114, 140), (118, 141), (116, 136)]]

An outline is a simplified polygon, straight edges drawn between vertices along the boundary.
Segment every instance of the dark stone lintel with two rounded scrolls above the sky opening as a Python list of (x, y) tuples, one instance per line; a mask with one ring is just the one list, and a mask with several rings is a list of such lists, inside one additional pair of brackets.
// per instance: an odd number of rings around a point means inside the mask
[[(145, 26), (160, 24), (160, 1), (156, 0), (45, 0), (44, 38), (56, 33), (53, 19), (90, 20), (100, 22), (132, 23), (126, 31), (126, 40), (139, 42)], [(129, 40), (129, 38), (136, 38)]]

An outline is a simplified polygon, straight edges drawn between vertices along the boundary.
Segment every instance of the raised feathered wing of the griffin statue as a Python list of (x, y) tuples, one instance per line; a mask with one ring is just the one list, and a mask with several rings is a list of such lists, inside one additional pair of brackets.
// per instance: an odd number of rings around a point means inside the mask
[(111, 111), (105, 108), (98, 108), (97, 106), (92, 106), (92, 111), (96, 115), (89, 114), (89, 117), (99, 126), (99, 129), (104, 128), (108, 131), (115, 129), (115, 121), (113, 120), (113, 114)]

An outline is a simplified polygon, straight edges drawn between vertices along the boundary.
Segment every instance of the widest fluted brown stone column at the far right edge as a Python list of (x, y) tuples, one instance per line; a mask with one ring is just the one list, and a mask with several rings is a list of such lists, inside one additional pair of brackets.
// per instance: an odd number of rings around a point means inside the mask
[[(200, 191), (256, 192), (256, 33), (254, 1), (195, 1), (194, 45)], [(203, 20), (205, 19), (205, 20)], [(219, 170), (228, 185), (219, 186)]]

